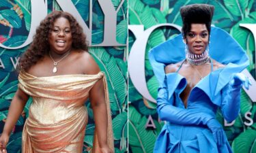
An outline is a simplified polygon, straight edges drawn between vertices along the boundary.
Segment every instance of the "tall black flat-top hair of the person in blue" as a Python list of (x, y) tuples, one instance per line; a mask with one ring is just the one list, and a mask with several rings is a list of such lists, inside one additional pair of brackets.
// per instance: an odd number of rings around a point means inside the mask
[(180, 14), (182, 16), (182, 35), (184, 38), (190, 31), (192, 23), (205, 24), (210, 34), (214, 6), (207, 4), (186, 5), (180, 9)]

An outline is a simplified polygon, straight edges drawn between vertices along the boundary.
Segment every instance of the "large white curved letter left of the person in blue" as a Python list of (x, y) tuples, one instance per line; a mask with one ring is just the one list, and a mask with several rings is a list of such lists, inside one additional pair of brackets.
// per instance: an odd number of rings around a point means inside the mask
[(129, 25), (128, 29), (132, 31), (135, 35), (136, 40), (130, 49), (129, 54), (129, 74), (132, 84), (138, 90), (138, 92), (145, 97), (145, 99), (156, 103), (156, 100), (150, 95), (149, 90), (147, 89), (147, 83), (145, 80), (145, 49), (147, 45), (147, 39), (150, 37), (150, 34), (157, 29), (158, 27), (174, 27), (181, 31), (181, 27), (176, 24), (158, 24), (156, 26), (150, 27), (144, 31), (143, 25)]

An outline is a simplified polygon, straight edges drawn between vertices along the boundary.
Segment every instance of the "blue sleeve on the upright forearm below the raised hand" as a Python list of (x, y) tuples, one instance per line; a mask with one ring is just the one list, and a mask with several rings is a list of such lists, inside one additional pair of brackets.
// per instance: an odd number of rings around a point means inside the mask
[(242, 85), (232, 86), (227, 84), (221, 90), (221, 112), (228, 122), (238, 117), (240, 112), (240, 92)]

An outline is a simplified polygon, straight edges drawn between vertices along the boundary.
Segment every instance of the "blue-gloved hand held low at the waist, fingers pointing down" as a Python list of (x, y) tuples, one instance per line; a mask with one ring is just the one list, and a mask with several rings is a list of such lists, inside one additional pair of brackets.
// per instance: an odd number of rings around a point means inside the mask
[(223, 126), (221, 126), (221, 124), (215, 118), (209, 120), (206, 125), (210, 131), (212, 131), (212, 135), (214, 136), (214, 140), (216, 141), (217, 145), (222, 146), (226, 139)]

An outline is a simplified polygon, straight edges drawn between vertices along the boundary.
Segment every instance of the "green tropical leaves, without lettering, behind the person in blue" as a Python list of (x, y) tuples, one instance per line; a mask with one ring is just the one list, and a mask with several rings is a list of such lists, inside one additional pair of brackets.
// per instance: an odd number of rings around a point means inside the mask
[[(173, 23), (182, 26), (180, 7), (193, 3), (208, 3), (215, 6), (213, 22), (216, 27), (230, 33), (244, 48), (250, 58), (248, 71), (255, 79), (255, 40), (248, 29), (239, 27), (240, 23), (256, 23), (256, 1), (253, 0), (129, 0), (129, 24), (143, 24), (148, 29), (160, 23)], [(154, 46), (174, 37), (180, 32), (172, 28), (156, 29), (147, 41), (145, 53), (145, 78), (147, 87), (156, 99), (158, 82), (147, 57), (147, 52)], [(129, 50), (135, 37), (129, 31)], [(137, 50), (139, 52), (139, 50)], [(129, 152), (150, 153), (153, 152), (154, 142), (164, 122), (158, 122), (156, 104), (144, 99), (129, 79)], [(251, 112), (254, 124), (246, 126), (248, 122), (244, 118), (246, 112)], [(233, 126), (226, 126), (225, 133), (234, 153), (256, 152), (256, 103), (242, 91), (241, 112)], [(145, 129), (148, 116), (152, 116), (156, 129)], [(223, 124), (223, 116), (217, 114), (218, 120)]]

